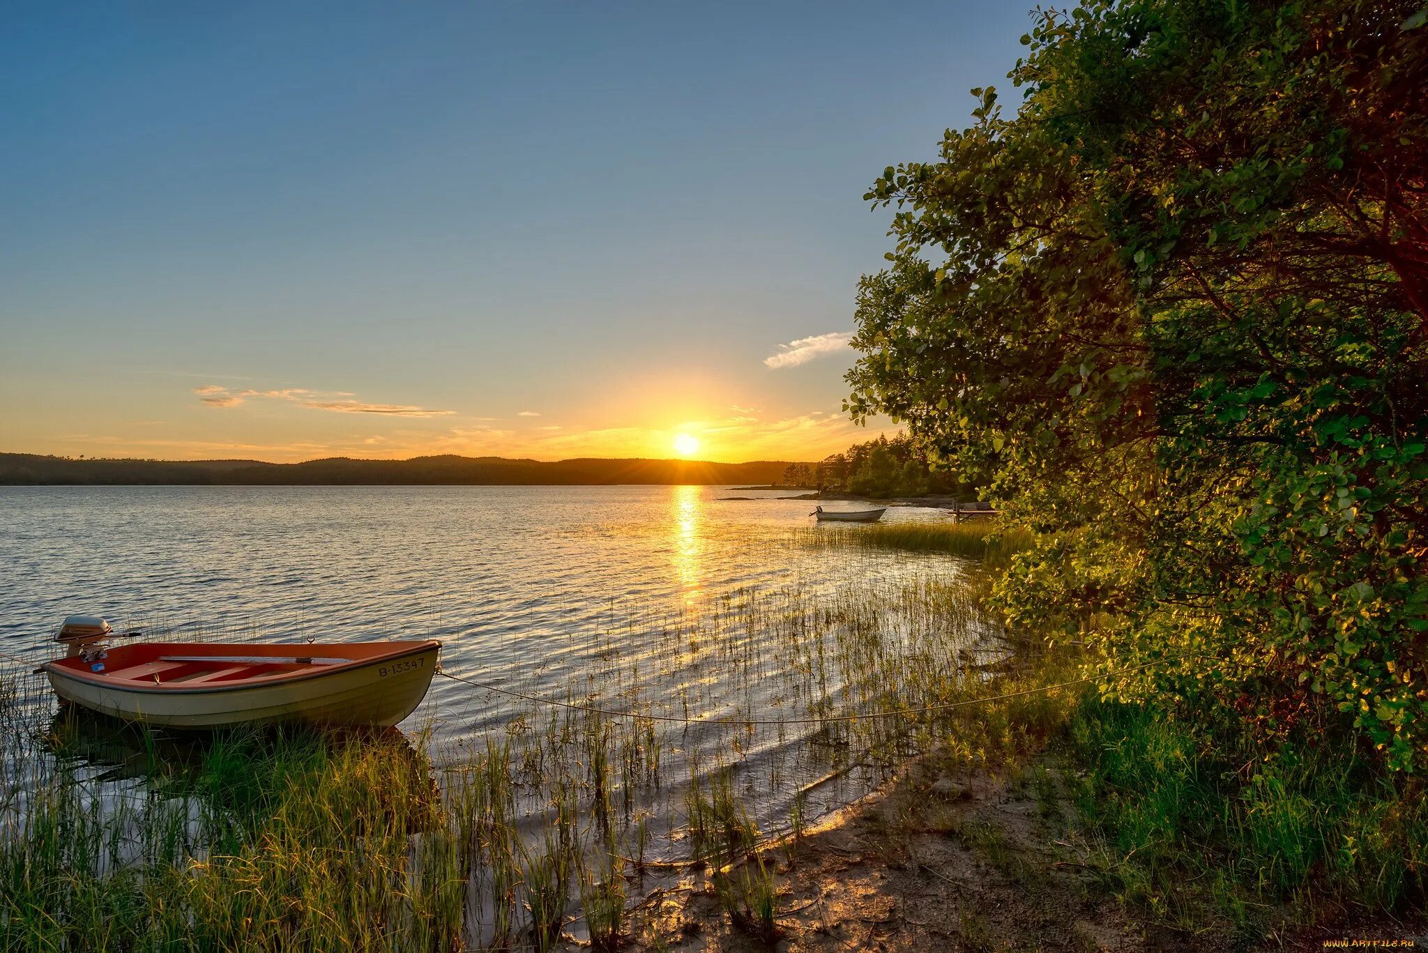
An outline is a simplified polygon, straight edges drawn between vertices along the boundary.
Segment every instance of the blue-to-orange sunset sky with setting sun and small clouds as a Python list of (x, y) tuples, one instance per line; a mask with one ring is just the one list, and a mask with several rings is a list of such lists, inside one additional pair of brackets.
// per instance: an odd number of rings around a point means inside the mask
[(1008, 86), (1030, 6), (7, 6), (0, 450), (865, 440), (861, 196)]

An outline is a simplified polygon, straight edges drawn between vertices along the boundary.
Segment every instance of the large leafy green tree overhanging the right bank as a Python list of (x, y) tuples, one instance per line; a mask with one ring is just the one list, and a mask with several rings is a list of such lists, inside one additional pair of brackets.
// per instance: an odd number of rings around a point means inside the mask
[(1040, 11), (1015, 114), (972, 90), (938, 161), (868, 191), (895, 247), (848, 377), (855, 417), (1045, 532), (1012, 619), (1181, 659), (1130, 694), (1248, 697), (1269, 739), (1404, 770), (1428, 766), (1419, 7)]

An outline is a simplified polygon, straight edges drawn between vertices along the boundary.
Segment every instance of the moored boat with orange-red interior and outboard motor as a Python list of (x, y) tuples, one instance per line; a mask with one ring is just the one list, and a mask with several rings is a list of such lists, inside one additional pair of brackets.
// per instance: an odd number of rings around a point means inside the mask
[(54, 693), (126, 722), (198, 730), (396, 724), (426, 697), (441, 650), (434, 639), (110, 646), (114, 634), (94, 616), (66, 619), (54, 640), (69, 644), (70, 654), (40, 666)]

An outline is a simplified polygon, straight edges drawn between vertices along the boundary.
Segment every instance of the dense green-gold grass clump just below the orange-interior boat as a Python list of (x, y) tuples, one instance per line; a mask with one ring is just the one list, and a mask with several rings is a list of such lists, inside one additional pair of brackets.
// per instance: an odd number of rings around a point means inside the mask
[(166, 794), (57, 764), (0, 830), (6, 947), (450, 946), (458, 857), (414, 754), (381, 739), (228, 739)]

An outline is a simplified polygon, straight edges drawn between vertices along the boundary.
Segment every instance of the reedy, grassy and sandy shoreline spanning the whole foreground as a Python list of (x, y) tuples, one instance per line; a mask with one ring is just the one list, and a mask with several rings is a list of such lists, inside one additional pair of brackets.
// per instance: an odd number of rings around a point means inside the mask
[[(121, 926), (136, 946), (181, 927), (211, 949), (234, 950), (244, 949), (238, 939), (248, 934), (236, 924), (247, 923), (264, 924), (257, 946), (268, 949), (281, 949), (304, 929), (337, 930), (364, 949), (376, 942), (371, 924), (380, 922), (406, 924), (411, 933), (404, 937), (421, 947), (467, 949), (474, 942), (471, 949), (648, 953), (774, 946), (783, 953), (1317, 950), (1325, 940), (1394, 942), (1425, 929), (1409, 894), (1405, 906), (1374, 909), (1354, 906), (1352, 893), (1332, 893), (1334, 882), (1322, 877), (1308, 882), (1322, 890), (1312, 902), (1264, 880), (1257, 886), (1248, 872), (1272, 870), (1282, 856), (1277, 847), (1267, 853), (1187, 826), (1192, 816), (1182, 804), (1197, 799), (1212, 810), (1245, 810), (1235, 792), (1177, 780), (1220, 777), (1222, 764), (1197, 754), (1198, 739), (1184, 724), (1142, 704), (1101, 699), (1080, 677), (1098, 662), (1084, 649), (1048, 644), (1028, 629), (1002, 637), (1007, 657), (981, 664), (961, 653), (910, 656), (898, 647), (907, 639), (901, 629), (894, 639), (891, 630), (864, 627), (911, 597), (921, 600), (914, 616), (928, 622), (914, 644), (935, 652), (955, 642), (958, 620), (971, 623), (977, 614), (964, 610), (980, 610), (988, 573), (1034, 542), (995, 529), (910, 520), (878, 533), (808, 534), (818, 546), (935, 550), (980, 566), (958, 573), (961, 583), (948, 590), (918, 587), (841, 610), (810, 604), (787, 629), (781, 609), (760, 623), (758, 632), (828, 630), (844, 639), (827, 652), (810, 643), (784, 660), (797, 666), (780, 663), (770, 672), (813, 672), (818, 657), (874, 653), (844, 677), (875, 677), (848, 682), (875, 694), (864, 699), (863, 714), (820, 727), (828, 730), (830, 773), (797, 789), (787, 816), (781, 807), (773, 814), (754, 807), (757, 793), (745, 789), (754, 774), (741, 769), (743, 729), (714, 742), (713, 762), (678, 763), (674, 742), (645, 733), (638, 719), (591, 723), (570, 710), (547, 722), (544, 709), (516, 709), (507, 726), (543, 727), (506, 733), (484, 753), (460, 743), (430, 747), (420, 727), (410, 737), (397, 732), (337, 744), (297, 734), (240, 739), (206, 750), (178, 774), (170, 762), (154, 774), (156, 789), (161, 774), (171, 780), (187, 770), (184, 793), (144, 800), (117, 823), (97, 807), (101, 799), (83, 793), (86, 784), (107, 783), (103, 776), (74, 776), (73, 759), (31, 762), (40, 766), (34, 777), (47, 779), (37, 802), (43, 812), (19, 819), (21, 826), (10, 829), (16, 837), (0, 839), (0, 857), (11, 869), (34, 872), (10, 899), (10, 916), (39, 923), (61, 910), (63, 930), (86, 939), (101, 929), (103, 909), (83, 900), (114, 897), (106, 903), (131, 917)], [(830, 624), (835, 619), (841, 622)], [(688, 633), (713, 649), (743, 646), (724, 642), (737, 630)], [(775, 652), (780, 644), (770, 643)], [(954, 669), (958, 674), (948, 674)], [(6, 674), (23, 677), (0, 670)], [(16, 707), (20, 697), (0, 692), (0, 720), (17, 729), (30, 717)], [(871, 717), (912, 703), (928, 707), (912, 717)], [(54, 753), (74, 754), (93, 744), (49, 712), (31, 714), (43, 716), (34, 722), (43, 730), (11, 732), (0, 756), (31, 757), (49, 743), (59, 744)], [(821, 717), (838, 720), (828, 712)], [(1167, 750), (1184, 770), (1164, 770), (1157, 759)], [(163, 762), (156, 752), (161, 754), (141, 744), (119, 769), (154, 770)], [(527, 773), (531, 766), (537, 774)], [(800, 799), (858, 767), (875, 769), (877, 777), (828, 813), (810, 812), (817, 820), (805, 826)], [(680, 787), (675, 802), (658, 802), (658, 792)], [(521, 813), (533, 803), (554, 806), (554, 820), (545, 807)], [(1164, 820), (1171, 837), (1157, 827), (1145, 840), (1144, 829), (1134, 827), (1144, 814), (1134, 812), (1147, 804), (1160, 812), (1165, 803), (1174, 807)], [(651, 840), (643, 817), (670, 804), (680, 820)], [(166, 819), (188, 824), (191, 812), (198, 833), (166, 840), (166, 832), (177, 830)], [(79, 849), (49, 836), (61, 819), (76, 817), (87, 839)], [(334, 817), (344, 823), (328, 823)], [(1349, 829), (1325, 824), (1325, 843), (1341, 830)], [(428, 834), (423, 843), (436, 853), (413, 852), (414, 832)], [(210, 853), (216, 843), (223, 850)], [(301, 850), (274, 849), (298, 843)], [(675, 850), (668, 860), (664, 846)], [(84, 866), (109, 850), (163, 860), (151, 867)], [(204, 856), (201, 866), (188, 863), (190, 852)], [(1225, 857), (1245, 869), (1220, 876)], [(328, 896), (333, 870), (350, 899), (337, 920), (317, 917), (327, 907), (314, 900)], [(391, 892), (384, 870), (401, 872), (406, 886)], [(473, 870), (484, 873), (473, 880)], [(260, 889), (277, 883), (288, 886)], [(533, 893), (541, 890), (547, 893)], [(473, 894), (474, 919), (463, 900)], [(614, 920), (593, 919), (608, 916), (611, 904)], [(438, 917), (421, 919), (437, 909)], [(313, 919), (288, 920), (310, 913)], [(600, 930), (595, 940), (591, 924)], [(531, 942), (537, 930), (544, 932), (540, 943)]]

